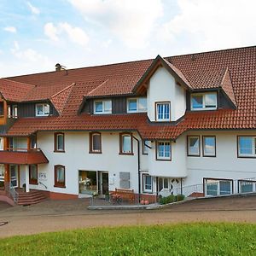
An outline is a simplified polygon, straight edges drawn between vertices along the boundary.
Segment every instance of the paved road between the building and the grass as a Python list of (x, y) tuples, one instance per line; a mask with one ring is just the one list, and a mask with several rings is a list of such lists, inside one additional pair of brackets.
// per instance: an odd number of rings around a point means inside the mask
[[(87, 201), (44, 201), (32, 207), (0, 212), (0, 237), (96, 226), (186, 223), (202, 221), (256, 223), (256, 196), (189, 201), (154, 211), (89, 211)], [(41, 210), (41, 211), (40, 211)]]

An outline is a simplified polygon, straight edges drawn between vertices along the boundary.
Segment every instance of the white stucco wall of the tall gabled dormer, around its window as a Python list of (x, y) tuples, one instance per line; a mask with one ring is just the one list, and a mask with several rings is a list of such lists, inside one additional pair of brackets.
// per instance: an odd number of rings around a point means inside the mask
[(176, 121), (186, 111), (185, 90), (164, 67), (156, 70), (148, 84), (148, 118), (151, 121), (155, 121), (155, 102), (171, 102), (171, 121)]

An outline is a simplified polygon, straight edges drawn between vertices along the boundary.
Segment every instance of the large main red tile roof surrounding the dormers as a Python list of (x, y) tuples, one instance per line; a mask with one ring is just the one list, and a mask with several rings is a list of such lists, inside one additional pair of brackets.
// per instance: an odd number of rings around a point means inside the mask
[[(27, 135), (41, 130), (132, 130), (138, 131), (143, 138), (175, 139), (190, 129), (256, 129), (256, 47), (178, 55), (167, 57), (166, 61), (183, 74), (193, 89), (224, 90), (237, 109), (188, 112), (177, 125), (152, 125), (145, 113), (78, 115), (84, 96), (99, 96), (102, 92), (113, 95), (116, 90), (119, 94), (127, 94), (132, 90), (152, 63), (152, 60), (134, 61), (73, 69), (68, 70), (68, 74), (53, 72), (9, 78), (38, 85), (33, 90), (38, 90), (35, 95), (39, 96), (40, 88), (49, 90), (52, 86), (58, 92), (67, 84), (75, 83), (64, 101), (61, 116), (18, 119), (9, 135)], [(53, 90), (50, 94), (53, 95)]]

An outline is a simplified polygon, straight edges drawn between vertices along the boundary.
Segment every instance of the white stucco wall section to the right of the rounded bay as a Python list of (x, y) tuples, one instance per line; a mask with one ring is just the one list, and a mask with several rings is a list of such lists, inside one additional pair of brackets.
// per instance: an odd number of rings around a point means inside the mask
[[(255, 131), (189, 132), (201, 136), (201, 156), (187, 157), (188, 177), (184, 185), (203, 182), (203, 177), (241, 179), (256, 177), (256, 159), (237, 158), (237, 136), (255, 135)], [(216, 157), (202, 156), (202, 136), (216, 136)]]

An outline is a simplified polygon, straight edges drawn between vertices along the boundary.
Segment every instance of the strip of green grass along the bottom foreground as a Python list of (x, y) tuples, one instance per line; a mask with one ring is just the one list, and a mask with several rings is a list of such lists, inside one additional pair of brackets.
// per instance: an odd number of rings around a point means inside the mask
[(13, 236), (0, 255), (255, 255), (256, 224), (165, 224)]

